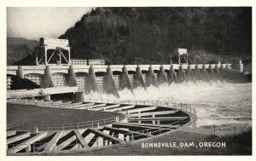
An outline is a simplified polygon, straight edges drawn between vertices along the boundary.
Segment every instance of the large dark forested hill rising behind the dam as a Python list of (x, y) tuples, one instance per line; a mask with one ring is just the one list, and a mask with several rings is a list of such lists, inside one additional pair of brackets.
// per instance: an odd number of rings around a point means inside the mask
[(175, 48), (249, 56), (251, 20), (251, 8), (96, 8), (60, 38), (72, 58), (112, 64), (169, 63)]

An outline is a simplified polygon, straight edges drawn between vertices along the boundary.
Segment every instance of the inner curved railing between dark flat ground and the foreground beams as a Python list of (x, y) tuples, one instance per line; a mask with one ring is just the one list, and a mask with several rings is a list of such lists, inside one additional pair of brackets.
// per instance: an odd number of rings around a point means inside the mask
[(117, 117), (99, 119), (95, 121), (69, 123), (69, 124), (9, 124), (7, 131), (20, 130), (20, 131), (50, 131), (50, 130), (65, 130), (65, 129), (86, 129), (86, 128), (99, 128), (108, 124), (117, 123), (123, 120), (126, 115), (120, 114)]

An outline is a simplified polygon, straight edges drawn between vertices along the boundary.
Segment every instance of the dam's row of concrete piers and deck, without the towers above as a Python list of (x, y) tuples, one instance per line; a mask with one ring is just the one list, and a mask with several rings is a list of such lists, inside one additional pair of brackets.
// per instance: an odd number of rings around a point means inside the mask
[[(8, 94), (19, 89), (52, 89), (54, 94), (63, 93), (57, 88), (65, 88), (66, 93), (77, 93), (82, 101), (83, 95), (91, 91), (112, 94), (119, 97), (119, 90), (143, 87), (161, 83), (183, 83), (223, 81), (231, 78), (230, 64), (216, 65), (112, 65), (112, 66), (7, 66), (9, 84)], [(231, 72), (230, 72), (231, 71)], [(228, 74), (227, 74), (228, 73)], [(235, 75), (241, 73), (235, 73)], [(77, 87), (75, 89), (74, 87)], [(68, 90), (70, 89), (70, 90)], [(15, 90), (15, 91), (13, 91)], [(28, 94), (30, 91), (25, 91)], [(22, 92), (21, 92), (22, 93)], [(40, 96), (40, 95), (34, 95)], [(9, 98), (26, 97), (13, 95)]]

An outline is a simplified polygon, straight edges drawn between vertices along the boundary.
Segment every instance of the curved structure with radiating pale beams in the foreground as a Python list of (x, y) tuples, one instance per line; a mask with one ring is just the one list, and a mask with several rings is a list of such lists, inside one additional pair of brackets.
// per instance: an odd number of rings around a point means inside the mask
[[(8, 100), (8, 102), (35, 105), (37, 101)], [(45, 101), (44, 104), (44, 101), (41, 101), (39, 106), (119, 112), (120, 115), (116, 118), (96, 120), (90, 124), (88, 122), (59, 126), (37, 125), (32, 129), (9, 125), (7, 153), (14, 155), (24, 152), (91, 151), (94, 147), (109, 147), (159, 135), (172, 135), (172, 132), (180, 126), (188, 128), (195, 126), (196, 112), (187, 106), (175, 106), (166, 102), (158, 102), (157, 105), (153, 105), (154, 102), (149, 104), (145, 101), (137, 101), (137, 105), (134, 105), (133, 101), (130, 103), (121, 101), (119, 104), (113, 104), (110, 101), (70, 104), (62, 104), (61, 101), (50, 103)]]

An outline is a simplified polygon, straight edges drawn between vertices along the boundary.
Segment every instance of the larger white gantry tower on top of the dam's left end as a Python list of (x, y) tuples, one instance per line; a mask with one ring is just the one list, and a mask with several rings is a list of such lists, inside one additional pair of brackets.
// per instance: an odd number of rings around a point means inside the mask
[(67, 39), (40, 38), (40, 49), (36, 55), (37, 66), (70, 65), (70, 47)]

